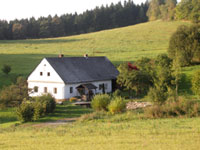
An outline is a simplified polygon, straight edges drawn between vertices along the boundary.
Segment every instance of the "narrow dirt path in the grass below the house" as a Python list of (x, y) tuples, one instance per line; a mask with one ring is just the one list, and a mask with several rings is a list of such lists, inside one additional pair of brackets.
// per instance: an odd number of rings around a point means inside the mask
[(65, 118), (57, 121), (44, 122), (32, 125), (33, 127), (57, 127), (59, 125), (65, 125), (67, 123), (75, 122), (78, 118)]

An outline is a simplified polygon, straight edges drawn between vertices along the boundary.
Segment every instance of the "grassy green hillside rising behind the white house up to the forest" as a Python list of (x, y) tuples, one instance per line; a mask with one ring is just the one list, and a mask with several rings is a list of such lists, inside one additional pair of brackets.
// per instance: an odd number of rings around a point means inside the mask
[(9, 84), (16, 75), (28, 75), (43, 57), (107, 56), (113, 63), (134, 61), (142, 56), (165, 53), (169, 38), (179, 25), (189, 22), (154, 21), (124, 28), (77, 36), (38, 40), (0, 41), (0, 68), (12, 66), (9, 77), (0, 73), (0, 87)]

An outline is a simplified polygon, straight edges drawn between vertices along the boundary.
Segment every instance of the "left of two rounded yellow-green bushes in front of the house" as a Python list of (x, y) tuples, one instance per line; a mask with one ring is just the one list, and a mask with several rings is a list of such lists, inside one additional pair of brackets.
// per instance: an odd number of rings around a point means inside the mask
[(100, 94), (96, 95), (92, 102), (91, 106), (94, 110), (96, 111), (101, 111), (101, 110), (108, 110), (108, 104), (110, 103), (111, 97), (108, 94)]

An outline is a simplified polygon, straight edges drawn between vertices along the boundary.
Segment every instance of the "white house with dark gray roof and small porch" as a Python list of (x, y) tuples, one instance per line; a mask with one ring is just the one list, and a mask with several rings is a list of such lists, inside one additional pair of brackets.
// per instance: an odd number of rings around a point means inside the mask
[(28, 77), (30, 96), (52, 94), (57, 100), (110, 93), (119, 72), (106, 57), (44, 58)]

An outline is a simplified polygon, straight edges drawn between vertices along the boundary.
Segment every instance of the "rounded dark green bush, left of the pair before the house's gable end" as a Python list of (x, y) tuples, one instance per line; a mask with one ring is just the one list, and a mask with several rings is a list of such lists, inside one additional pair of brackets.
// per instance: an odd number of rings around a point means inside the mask
[(33, 121), (34, 108), (32, 103), (23, 101), (23, 103), (16, 109), (17, 118), (20, 122)]

